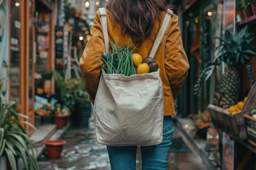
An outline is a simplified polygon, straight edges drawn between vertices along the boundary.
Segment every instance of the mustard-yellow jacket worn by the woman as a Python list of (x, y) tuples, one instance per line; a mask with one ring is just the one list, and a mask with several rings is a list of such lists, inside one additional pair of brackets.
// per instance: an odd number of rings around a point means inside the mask
[[(106, 12), (110, 42), (115, 38), (119, 46), (126, 46), (129, 36), (127, 34), (121, 35), (121, 24), (115, 21), (116, 26), (114, 26), (112, 14), (108, 9), (106, 9)], [(150, 37), (138, 44), (137, 49), (133, 53), (139, 53), (141, 56), (149, 55), (165, 15), (165, 11), (159, 14), (161, 21), (157, 20)], [(80, 58), (80, 68), (85, 82), (85, 89), (89, 94), (90, 101), (94, 103), (101, 76), (101, 66), (97, 62), (103, 64), (101, 58), (97, 55), (105, 53), (99, 10), (95, 13), (90, 33), (90, 40), (86, 44), (83, 55)], [(136, 44), (131, 40), (129, 42), (131, 43), (130, 48), (133, 49)], [(175, 14), (171, 18), (162, 43), (155, 55), (155, 61), (159, 65), (160, 77), (164, 88), (164, 115), (176, 115), (175, 99), (180, 94), (187, 77), (189, 62), (182, 44), (178, 17)]]

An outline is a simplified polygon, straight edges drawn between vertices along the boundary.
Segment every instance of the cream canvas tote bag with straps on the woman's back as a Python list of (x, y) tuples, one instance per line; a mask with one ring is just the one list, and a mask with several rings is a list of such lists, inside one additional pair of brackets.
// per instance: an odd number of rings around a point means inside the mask
[[(100, 8), (106, 53), (108, 28)], [(149, 57), (155, 57), (173, 12), (167, 11)], [(108, 146), (150, 146), (163, 138), (164, 96), (158, 71), (143, 75), (106, 74), (102, 69), (94, 102), (94, 123), (99, 144)]]

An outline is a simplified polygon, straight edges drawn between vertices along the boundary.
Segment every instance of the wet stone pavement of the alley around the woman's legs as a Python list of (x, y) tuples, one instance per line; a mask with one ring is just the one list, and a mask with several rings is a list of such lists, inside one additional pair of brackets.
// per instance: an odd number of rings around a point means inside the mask
[[(173, 137), (179, 136), (182, 132), (175, 126)], [(111, 170), (106, 146), (96, 142), (93, 121), (87, 127), (70, 126), (61, 139), (66, 141), (61, 157), (50, 159), (43, 152), (38, 158), (41, 170)], [(195, 149), (184, 141), (192, 152), (170, 152), (167, 170), (207, 170)], [(141, 170), (140, 157), (138, 147), (136, 170)]]

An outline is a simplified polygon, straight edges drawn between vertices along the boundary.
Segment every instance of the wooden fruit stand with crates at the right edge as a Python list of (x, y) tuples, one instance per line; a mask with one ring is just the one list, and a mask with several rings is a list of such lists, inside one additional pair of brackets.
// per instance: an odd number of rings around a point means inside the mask
[[(226, 132), (231, 139), (234, 139), (234, 166), (236, 168), (240, 167), (240, 169), (248, 169), (254, 167), (254, 159), (256, 158), (256, 145), (253, 145), (252, 142), (254, 139), (253, 132), (249, 134), (248, 139), (248, 124), (252, 126), (252, 122), (256, 119), (252, 117), (252, 110), (256, 108), (256, 83), (252, 86), (247, 99), (243, 105), (243, 108), (237, 112), (232, 114), (227, 109), (221, 108), (219, 106), (215, 106), (213, 104), (209, 104), (209, 113), (211, 115), (213, 125)], [(246, 119), (247, 118), (247, 119)], [(245, 120), (247, 120), (245, 122)], [(256, 125), (256, 123), (255, 123)], [(250, 130), (255, 129), (256, 126), (251, 127)], [(256, 132), (256, 130), (254, 131)], [(249, 140), (249, 142), (248, 142)]]

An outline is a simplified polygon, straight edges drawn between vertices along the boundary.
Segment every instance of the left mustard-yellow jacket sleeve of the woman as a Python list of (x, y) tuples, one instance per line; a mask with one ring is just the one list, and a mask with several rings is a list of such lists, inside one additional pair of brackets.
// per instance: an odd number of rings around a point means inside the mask
[(79, 64), (85, 84), (85, 90), (89, 94), (90, 101), (94, 104), (102, 68), (97, 62), (103, 65), (103, 61), (98, 55), (105, 53), (99, 10), (94, 15), (90, 33), (91, 37), (85, 46)]

